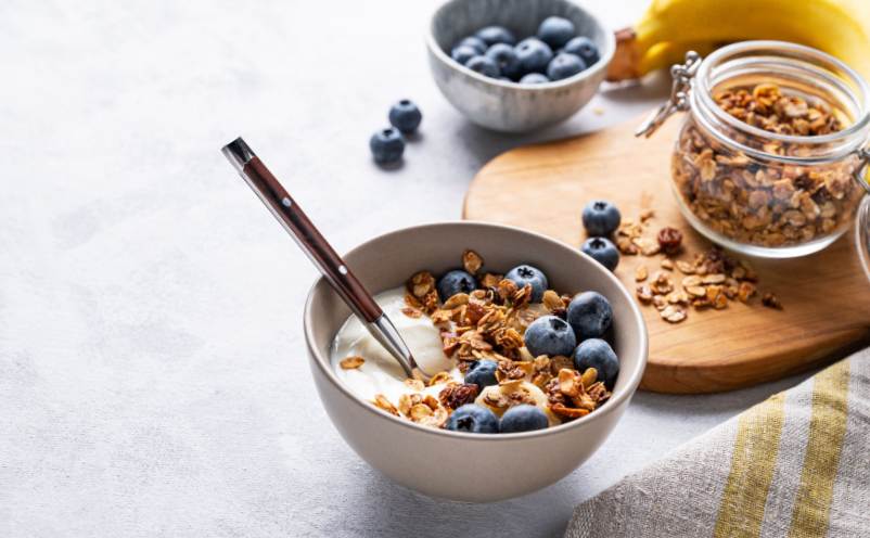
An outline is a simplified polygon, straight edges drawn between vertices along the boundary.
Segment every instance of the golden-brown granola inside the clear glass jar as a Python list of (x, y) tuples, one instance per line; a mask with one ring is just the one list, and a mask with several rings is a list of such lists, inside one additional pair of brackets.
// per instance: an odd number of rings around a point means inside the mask
[[(815, 137), (844, 128), (836, 111), (821, 101), (785, 95), (777, 85), (714, 95), (728, 114), (765, 131)], [(818, 149), (733, 130), (737, 142), (770, 155), (810, 156)], [(818, 144), (816, 144), (816, 148)], [(772, 157), (760, 162), (722, 145), (689, 119), (671, 161), (683, 203), (706, 227), (730, 240), (783, 247), (831, 235), (850, 221), (861, 196), (852, 180), (857, 158), (795, 166)]]

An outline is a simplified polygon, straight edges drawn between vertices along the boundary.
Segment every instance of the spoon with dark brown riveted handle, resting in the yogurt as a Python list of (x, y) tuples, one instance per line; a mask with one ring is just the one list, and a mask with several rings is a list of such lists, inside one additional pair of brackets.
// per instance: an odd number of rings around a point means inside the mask
[(221, 152), (405, 374), (428, 381), (431, 376), (417, 364), (396, 325), (245, 141), (236, 138)]

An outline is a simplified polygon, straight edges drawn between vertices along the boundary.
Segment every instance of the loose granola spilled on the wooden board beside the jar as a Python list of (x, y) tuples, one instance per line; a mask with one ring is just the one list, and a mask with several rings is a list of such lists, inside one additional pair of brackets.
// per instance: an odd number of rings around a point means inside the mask
[[(715, 246), (683, 256), (682, 233), (676, 228), (661, 228), (655, 240), (650, 236), (653, 216), (647, 210), (638, 220), (625, 219), (616, 232), (623, 254), (663, 255), (654, 272), (645, 265), (635, 269), (641, 304), (654, 306), (665, 321), (679, 323), (688, 318), (690, 308), (721, 310), (729, 302), (749, 304), (758, 295), (758, 276), (746, 261)], [(763, 294), (762, 304), (782, 309), (772, 292)]]

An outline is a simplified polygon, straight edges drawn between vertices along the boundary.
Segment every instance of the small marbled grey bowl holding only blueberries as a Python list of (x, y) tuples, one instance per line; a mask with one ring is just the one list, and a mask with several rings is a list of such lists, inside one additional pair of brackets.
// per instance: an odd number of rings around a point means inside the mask
[[(504, 26), (523, 39), (551, 15), (572, 21), (578, 35), (596, 43), (601, 59), (564, 80), (520, 85), (485, 77), (450, 57), (457, 41), (484, 26)], [(450, 0), (432, 16), (426, 46), (435, 82), (459, 112), (488, 129), (528, 132), (567, 119), (592, 99), (616, 42), (594, 15), (566, 0)]]

